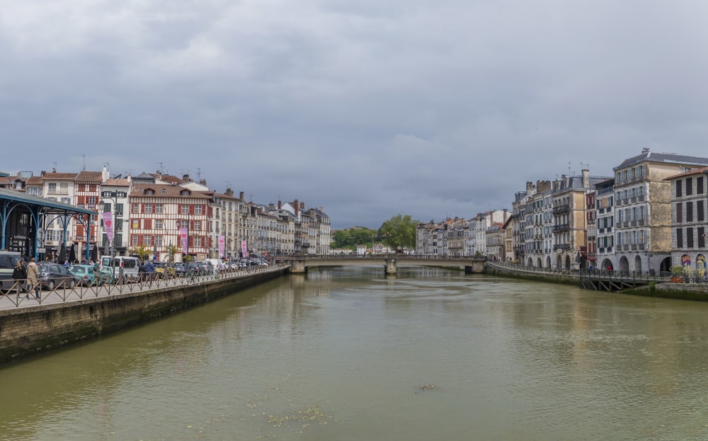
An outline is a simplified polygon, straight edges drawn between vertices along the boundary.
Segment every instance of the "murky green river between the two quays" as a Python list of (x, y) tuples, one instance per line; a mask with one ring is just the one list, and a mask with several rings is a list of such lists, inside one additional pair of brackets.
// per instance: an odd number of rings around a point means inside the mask
[(708, 304), (329, 268), (0, 368), (0, 440), (706, 440)]

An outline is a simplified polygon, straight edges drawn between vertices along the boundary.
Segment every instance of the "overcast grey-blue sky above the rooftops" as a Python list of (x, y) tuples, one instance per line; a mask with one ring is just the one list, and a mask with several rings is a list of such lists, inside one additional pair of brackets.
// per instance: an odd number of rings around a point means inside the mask
[(703, 0), (0, 0), (0, 170), (159, 168), (333, 228), (708, 156)]

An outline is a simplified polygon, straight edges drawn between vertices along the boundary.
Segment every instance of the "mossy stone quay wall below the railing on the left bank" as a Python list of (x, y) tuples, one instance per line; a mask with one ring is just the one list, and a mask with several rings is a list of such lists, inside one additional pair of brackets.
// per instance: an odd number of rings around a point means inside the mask
[(0, 310), (0, 362), (118, 331), (273, 280), (287, 268), (110, 297)]

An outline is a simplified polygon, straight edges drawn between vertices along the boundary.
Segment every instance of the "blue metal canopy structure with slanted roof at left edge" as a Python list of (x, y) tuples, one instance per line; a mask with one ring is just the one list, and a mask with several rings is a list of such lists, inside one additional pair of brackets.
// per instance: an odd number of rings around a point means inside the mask
[[(28, 232), (31, 236), (29, 240), (33, 241), (33, 255), (38, 257), (38, 241), (43, 241), (42, 226), (45, 224), (45, 218), (55, 216), (55, 219), (62, 219), (64, 225), (64, 246), (67, 241), (67, 224), (71, 217), (76, 214), (85, 215), (86, 219), (91, 219), (91, 215), (96, 215), (92, 210), (75, 207), (74, 205), (64, 204), (54, 200), (45, 199), (44, 197), (27, 195), (16, 190), (7, 190), (0, 188), (0, 249), (6, 250), (8, 227), (11, 224), (18, 224), (21, 214), (28, 213), (30, 221), (28, 223)], [(79, 221), (81, 222), (81, 221)], [(90, 221), (89, 221), (90, 224)]]

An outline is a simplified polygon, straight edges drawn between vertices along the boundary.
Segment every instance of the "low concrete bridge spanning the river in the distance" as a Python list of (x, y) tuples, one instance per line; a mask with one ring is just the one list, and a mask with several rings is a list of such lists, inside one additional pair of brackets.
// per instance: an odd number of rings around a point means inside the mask
[(438, 266), (464, 268), (465, 273), (484, 272), (484, 256), (416, 256), (406, 254), (374, 254), (365, 256), (277, 256), (289, 263), (290, 273), (307, 273), (312, 266), (381, 265), (386, 274), (396, 274), (399, 266)]

